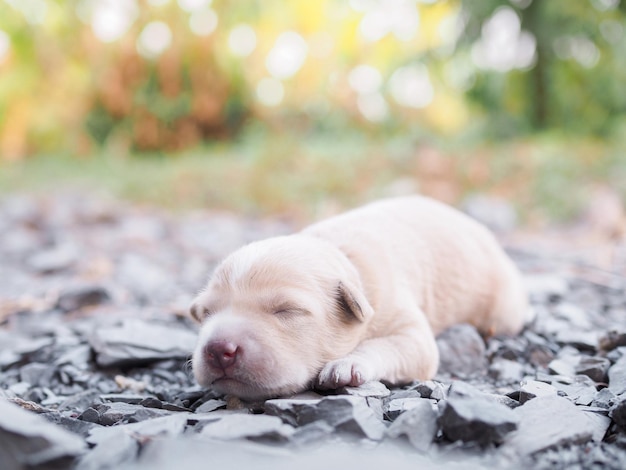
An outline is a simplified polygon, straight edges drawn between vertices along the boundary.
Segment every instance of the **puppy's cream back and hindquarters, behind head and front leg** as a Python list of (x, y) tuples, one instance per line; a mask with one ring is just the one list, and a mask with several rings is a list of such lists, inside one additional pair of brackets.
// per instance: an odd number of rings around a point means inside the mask
[(303, 233), (329, 240), (348, 256), (377, 316), (412, 300), (435, 334), (460, 322), (484, 333), (512, 334), (523, 326), (528, 307), (517, 268), (491, 232), (443, 203), (386, 199)]

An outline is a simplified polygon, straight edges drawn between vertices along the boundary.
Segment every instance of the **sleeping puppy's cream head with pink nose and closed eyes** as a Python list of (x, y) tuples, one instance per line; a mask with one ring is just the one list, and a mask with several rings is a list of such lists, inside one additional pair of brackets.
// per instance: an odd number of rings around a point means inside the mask
[(191, 314), (202, 323), (192, 360), (198, 383), (257, 399), (309, 387), (354, 349), (373, 311), (341, 251), (292, 235), (231, 254)]

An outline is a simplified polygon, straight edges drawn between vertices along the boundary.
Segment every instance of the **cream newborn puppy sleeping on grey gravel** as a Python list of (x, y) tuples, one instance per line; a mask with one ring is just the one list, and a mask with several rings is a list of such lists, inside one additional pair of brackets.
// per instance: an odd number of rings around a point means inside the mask
[(515, 334), (528, 312), (487, 229), (428, 198), (382, 200), (228, 256), (191, 306), (193, 373), (244, 399), (425, 380), (445, 328)]

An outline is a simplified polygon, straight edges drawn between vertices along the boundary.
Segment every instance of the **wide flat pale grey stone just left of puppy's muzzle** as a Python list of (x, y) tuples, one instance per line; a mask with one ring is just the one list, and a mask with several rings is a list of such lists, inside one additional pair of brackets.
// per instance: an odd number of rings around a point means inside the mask
[(173, 325), (128, 318), (119, 325), (95, 328), (89, 342), (98, 365), (120, 367), (186, 358), (196, 339), (195, 333)]

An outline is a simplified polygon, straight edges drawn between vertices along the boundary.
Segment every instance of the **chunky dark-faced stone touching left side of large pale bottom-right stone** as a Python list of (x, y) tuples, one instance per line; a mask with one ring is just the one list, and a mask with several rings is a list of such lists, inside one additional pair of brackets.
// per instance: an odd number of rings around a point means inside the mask
[(451, 396), (442, 407), (439, 425), (451, 441), (499, 444), (517, 429), (519, 418), (506, 405), (482, 397)]

